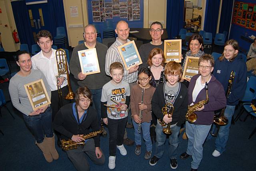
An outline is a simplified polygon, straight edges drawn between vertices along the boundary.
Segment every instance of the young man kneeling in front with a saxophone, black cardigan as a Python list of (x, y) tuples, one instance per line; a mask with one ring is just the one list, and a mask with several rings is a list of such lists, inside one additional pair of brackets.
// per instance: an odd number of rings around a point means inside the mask
[(85, 141), (84, 147), (68, 150), (67, 155), (78, 171), (87, 171), (90, 166), (86, 154), (97, 165), (105, 163), (105, 156), (100, 149), (100, 135), (90, 139), (82, 137), (89, 133), (90, 127), (92, 131), (99, 131), (100, 126), (97, 113), (90, 106), (92, 93), (87, 87), (76, 90), (75, 101), (60, 108), (54, 119), (54, 129), (62, 134), (62, 139), (72, 139), (76, 143)]

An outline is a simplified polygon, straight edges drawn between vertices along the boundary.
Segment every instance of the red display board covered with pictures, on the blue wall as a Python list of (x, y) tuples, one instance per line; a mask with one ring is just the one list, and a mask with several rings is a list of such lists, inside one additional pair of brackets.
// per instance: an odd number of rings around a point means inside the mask
[(236, 1), (232, 23), (256, 31), (256, 4)]

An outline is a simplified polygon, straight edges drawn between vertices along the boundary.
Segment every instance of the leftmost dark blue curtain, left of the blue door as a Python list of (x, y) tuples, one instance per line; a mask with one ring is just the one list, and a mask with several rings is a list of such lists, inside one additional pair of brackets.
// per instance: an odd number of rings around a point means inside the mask
[(32, 44), (35, 44), (28, 9), (24, 0), (11, 2), (13, 16), (20, 38), (20, 44), (28, 44), (29, 51), (31, 52)]

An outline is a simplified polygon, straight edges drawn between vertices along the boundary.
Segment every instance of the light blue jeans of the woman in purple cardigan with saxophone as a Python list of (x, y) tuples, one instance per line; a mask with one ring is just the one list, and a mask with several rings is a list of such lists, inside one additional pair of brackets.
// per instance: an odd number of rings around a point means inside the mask
[(196, 125), (186, 121), (186, 135), (188, 137), (188, 148), (186, 153), (192, 155), (192, 169), (197, 169), (203, 158), (203, 143), (210, 128), (211, 125)]

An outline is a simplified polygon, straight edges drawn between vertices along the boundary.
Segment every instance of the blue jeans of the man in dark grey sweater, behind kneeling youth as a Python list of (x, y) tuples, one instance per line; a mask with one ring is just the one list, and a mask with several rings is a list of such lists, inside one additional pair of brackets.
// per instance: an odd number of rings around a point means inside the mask
[(99, 121), (99, 125), (100, 125), (100, 121), (101, 121), (100, 99), (101, 99), (102, 88), (101, 89), (90, 89), (90, 91), (92, 93), (92, 107), (97, 111), (98, 121)]

